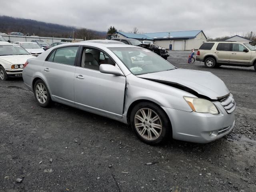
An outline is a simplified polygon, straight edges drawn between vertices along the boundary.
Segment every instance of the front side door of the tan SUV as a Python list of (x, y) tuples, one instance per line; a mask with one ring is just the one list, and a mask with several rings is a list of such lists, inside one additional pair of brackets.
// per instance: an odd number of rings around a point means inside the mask
[(248, 65), (252, 56), (252, 52), (244, 52), (248, 50), (244, 45), (240, 43), (232, 43), (232, 50), (230, 54), (230, 64), (242, 64)]

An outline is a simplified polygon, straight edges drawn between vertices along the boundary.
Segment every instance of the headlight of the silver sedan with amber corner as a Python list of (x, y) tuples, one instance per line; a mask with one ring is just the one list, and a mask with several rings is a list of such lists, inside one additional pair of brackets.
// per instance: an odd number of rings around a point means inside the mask
[(209, 100), (186, 96), (184, 96), (184, 99), (186, 100), (190, 108), (195, 112), (219, 114), (216, 106)]

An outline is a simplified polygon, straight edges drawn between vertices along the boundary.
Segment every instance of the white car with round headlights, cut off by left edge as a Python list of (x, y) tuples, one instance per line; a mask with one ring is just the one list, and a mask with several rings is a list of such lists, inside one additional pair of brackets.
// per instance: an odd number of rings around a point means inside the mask
[(0, 79), (21, 77), (27, 59), (34, 58), (24, 48), (8, 42), (0, 42)]

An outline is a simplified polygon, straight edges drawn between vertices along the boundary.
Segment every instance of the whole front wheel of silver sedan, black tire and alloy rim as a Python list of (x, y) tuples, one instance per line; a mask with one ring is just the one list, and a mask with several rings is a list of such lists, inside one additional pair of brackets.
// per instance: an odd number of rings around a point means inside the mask
[(130, 115), (133, 130), (147, 144), (159, 144), (170, 136), (170, 121), (164, 110), (150, 102), (134, 106)]

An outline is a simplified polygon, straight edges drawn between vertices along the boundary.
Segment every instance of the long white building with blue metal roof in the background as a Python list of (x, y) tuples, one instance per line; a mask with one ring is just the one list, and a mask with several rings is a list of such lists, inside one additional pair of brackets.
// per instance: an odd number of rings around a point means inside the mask
[(151, 40), (154, 41), (156, 45), (170, 50), (192, 50), (193, 48), (199, 49), (199, 47), (207, 40), (202, 30), (144, 34), (116, 32), (113, 34), (113, 37)]

